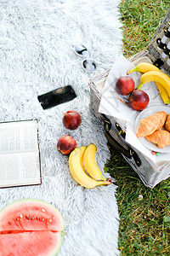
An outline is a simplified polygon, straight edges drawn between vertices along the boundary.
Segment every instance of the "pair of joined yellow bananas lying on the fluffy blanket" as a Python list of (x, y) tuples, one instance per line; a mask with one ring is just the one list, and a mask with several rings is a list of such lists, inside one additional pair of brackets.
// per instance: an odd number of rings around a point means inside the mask
[[(90, 144), (88, 148), (85, 146), (75, 148), (69, 156), (71, 176), (77, 183), (88, 189), (93, 189), (99, 185), (111, 184), (111, 180), (103, 176), (96, 164), (95, 151), (94, 144)], [(90, 176), (85, 172), (83, 163)]]

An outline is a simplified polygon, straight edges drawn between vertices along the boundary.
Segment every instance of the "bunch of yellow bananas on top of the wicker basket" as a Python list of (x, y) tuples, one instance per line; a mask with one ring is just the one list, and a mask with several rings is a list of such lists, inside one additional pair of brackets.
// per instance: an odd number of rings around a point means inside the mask
[(170, 78), (167, 74), (162, 73), (158, 67), (147, 62), (139, 63), (136, 67), (128, 70), (127, 74), (133, 72), (143, 73), (138, 89), (140, 89), (143, 84), (154, 81), (160, 92), (162, 101), (166, 105), (170, 103)]

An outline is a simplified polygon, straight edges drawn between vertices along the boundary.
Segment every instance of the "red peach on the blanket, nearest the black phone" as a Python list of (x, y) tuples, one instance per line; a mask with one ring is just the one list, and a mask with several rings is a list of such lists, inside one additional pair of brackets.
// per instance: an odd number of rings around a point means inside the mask
[(67, 129), (75, 130), (82, 123), (82, 117), (80, 113), (75, 110), (67, 111), (63, 116), (63, 124)]

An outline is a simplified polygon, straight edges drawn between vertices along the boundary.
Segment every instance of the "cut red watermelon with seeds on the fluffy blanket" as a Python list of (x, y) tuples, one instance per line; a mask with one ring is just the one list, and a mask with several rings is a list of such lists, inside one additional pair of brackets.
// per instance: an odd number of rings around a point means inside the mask
[(0, 256), (56, 255), (62, 245), (64, 221), (44, 201), (14, 201), (0, 211)]

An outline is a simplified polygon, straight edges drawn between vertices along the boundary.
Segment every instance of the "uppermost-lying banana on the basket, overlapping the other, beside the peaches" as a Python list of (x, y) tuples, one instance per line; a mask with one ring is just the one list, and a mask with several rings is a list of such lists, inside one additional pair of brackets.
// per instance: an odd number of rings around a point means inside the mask
[(161, 71), (149, 71), (142, 74), (138, 89), (140, 89), (143, 84), (149, 83), (151, 81), (161, 84), (164, 89), (167, 90), (168, 96), (170, 96), (170, 78), (166, 73), (162, 73)]

